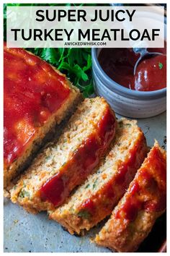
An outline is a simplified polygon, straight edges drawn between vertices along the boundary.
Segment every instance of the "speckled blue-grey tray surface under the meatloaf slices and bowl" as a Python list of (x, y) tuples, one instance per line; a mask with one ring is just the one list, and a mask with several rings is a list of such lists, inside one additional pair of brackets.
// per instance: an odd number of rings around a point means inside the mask
[[(117, 118), (121, 116), (117, 115)], [(139, 119), (138, 125), (146, 135), (148, 146), (154, 139), (166, 149), (166, 112), (149, 119)], [(99, 223), (85, 236), (71, 236), (61, 225), (48, 220), (47, 213), (27, 213), (10, 200), (4, 200), (4, 252), (111, 252), (90, 242), (102, 228)], [(166, 213), (158, 218), (153, 231), (140, 245), (138, 252), (164, 252), (166, 249)]]

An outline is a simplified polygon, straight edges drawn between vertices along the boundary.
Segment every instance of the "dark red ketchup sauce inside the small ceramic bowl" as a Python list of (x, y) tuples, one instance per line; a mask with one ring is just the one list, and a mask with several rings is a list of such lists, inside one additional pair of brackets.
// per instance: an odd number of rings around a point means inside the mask
[(148, 48), (150, 52), (164, 55), (151, 56), (138, 64), (140, 54), (133, 48), (102, 48), (99, 64), (104, 72), (118, 84), (131, 90), (153, 91), (166, 88), (166, 43), (164, 48)]

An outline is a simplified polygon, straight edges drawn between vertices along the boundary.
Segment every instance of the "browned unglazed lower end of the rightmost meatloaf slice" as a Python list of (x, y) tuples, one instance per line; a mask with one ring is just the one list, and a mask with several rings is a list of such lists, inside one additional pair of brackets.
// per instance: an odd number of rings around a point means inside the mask
[[(156, 218), (161, 216), (164, 211), (159, 213), (146, 213), (141, 210), (135, 223), (130, 224), (126, 229), (122, 229), (122, 223), (119, 220), (109, 221), (109, 232), (104, 229), (96, 236), (95, 242), (100, 246), (112, 249), (117, 252), (135, 252), (139, 244), (151, 232)], [(135, 226), (135, 227), (134, 227)], [(133, 242), (132, 242), (133, 238)]]

